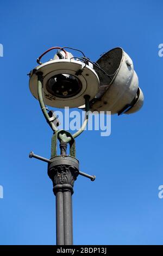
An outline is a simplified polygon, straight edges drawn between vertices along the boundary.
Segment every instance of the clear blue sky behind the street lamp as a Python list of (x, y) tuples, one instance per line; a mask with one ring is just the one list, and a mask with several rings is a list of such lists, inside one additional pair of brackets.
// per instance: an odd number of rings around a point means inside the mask
[(163, 244), (162, 7), (161, 0), (1, 2), (1, 245), (55, 244), (47, 165), (28, 158), (31, 150), (50, 157), (52, 132), (29, 92), (27, 73), (47, 48), (65, 45), (93, 61), (121, 46), (145, 95), (140, 112), (111, 117), (109, 137), (85, 131), (77, 138), (80, 170), (97, 178), (79, 176), (74, 185), (74, 244)]

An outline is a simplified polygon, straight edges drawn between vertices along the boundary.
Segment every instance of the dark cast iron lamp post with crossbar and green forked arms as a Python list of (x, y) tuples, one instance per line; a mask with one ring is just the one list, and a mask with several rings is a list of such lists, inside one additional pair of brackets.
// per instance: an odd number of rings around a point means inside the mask
[[(53, 63), (55, 63), (55, 61), (51, 62), (52, 65)], [(86, 65), (84, 64), (84, 66)], [(89, 69), (87, 71), (90, 72)], [(55, 126), (54, 124), (54, 121), (57, 119), (55, 117), (55, 114), (49, 114), (49, 112), (47, 111), (47, 107), (45, 105), (44, 100), (45, 95), (43, 95), (43, 72), (35, 69), (32, 72), (30, 72), (29, 75), (30, 79), (31, 77), (33, 78), (33, 76), (35, 76), (35, 79), (37, 78), (37, 97), (40, 103), (41, 111), (54, 133), (52, 137), (51, 159), (46, 159), (45, 157), (35, 155), (33, 152), (30, 152), (29, 157), (35, 157), (36, 159), (48, 163), (48, 176), (53, 182), (53, 192), (56, 197), (57, 245), (73, 245), (72, 194), (74, 181), (77, 179), (77, 176), (79, 174), (89, 178), (91, 181), (94, 181), (96, 178), (95, 176), (79, 171), (79, 161), (76, 159), (76, 146), (74, 141), (74, 139), (84, 131), (85, 126), (87, 124), (89, 117), (87, 112), (89, 111), (90, 96), (86, 94), (82, 95), (83, 100), (85, 101), (86, 109), (85, 120), (80, 130), (74, 133), (74, 135), (71, 135), (70, 132), (67, 132), (65, 130), (58, 130), (57, 126)], [(63, 81), (60, 81), (60, 83), (64, 84)], [(67, 84), (68, 83), (70, 84), (70, 81), (68, 81)], [(70, 86), (72, 86), (72, 88), (70, 89), (75, 91), (76, 88), (73, 88), (73, 83), (70, 84)], [(74, 86), (76, 86), (76, 84), (74, 84)], [(58, 141), (60, 143), (60, 155), (57, 155)], [(67, 144), (70, 145), (69, 154), (67, 154)]]

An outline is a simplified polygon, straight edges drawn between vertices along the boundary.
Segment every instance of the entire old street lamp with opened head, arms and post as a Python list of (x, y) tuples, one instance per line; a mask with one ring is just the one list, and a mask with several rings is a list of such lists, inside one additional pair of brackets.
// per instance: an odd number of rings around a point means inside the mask
[[(65, 48), (52, 47), (37, 58), (39, 64), (29, 73), (29, 88), (39, 100), (41, 111), (53, 130), (51, 159), (35, 155), (29, 157), (48, 163), (48, 176), (53, 182), (56, 197), (57, 245), (72, 245), (72, 194), (74, 181), (83, 175), (91, 181), (95, 176), (79, 170), (76, 159), (75, 138), (85, 129), (89, 111), (111, 111), (112, 114), (129, 114), (138, 111), (143, 105), (143, 94), (138, 87), (138, 78), (133, 62), (122, 48), (117, 47), (103, 54), (97, 62), (82, 57), (73, 57)], [(57, 49), (53, 59), (42, 63), (41, 58), (49, 51)], [(54, 111), (46, 107), (78, 107), (85, 110), (85, 120), (73, 135), (58, 130), (59, 120)], [(60, 155), (57, 155), (57, 142), (60, 142)], [(70, 153), (67, 154), (67, 144)]]

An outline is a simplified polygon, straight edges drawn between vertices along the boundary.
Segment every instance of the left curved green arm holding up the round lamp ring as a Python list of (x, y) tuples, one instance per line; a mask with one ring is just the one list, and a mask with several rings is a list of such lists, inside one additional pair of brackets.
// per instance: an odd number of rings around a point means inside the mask
[(52, 130), (58, 131), (57, 127), (55, 127), (53, 121), (53, 118), (50, 118), (47, 112), (47, 108), (45, 106), (44, 100), (43, 100), (43, 92), (42, 92), (42, 74), (37, 73), (37, 93), (38, 93), (38, 97), (39, 97), (39, 103), (40, 103), (40, 107), (41, 107), (41, 111), (45, 117), (45, 119), (47, 120), (47, 123), (51, 126)]

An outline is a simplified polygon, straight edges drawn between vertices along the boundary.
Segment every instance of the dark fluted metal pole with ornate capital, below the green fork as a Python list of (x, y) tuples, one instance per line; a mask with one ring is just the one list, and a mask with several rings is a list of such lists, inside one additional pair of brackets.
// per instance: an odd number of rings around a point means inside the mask
[(73, 245), (72, 194), (79, 175), (79, 161), (66, 155), (66, 148), (67, 143), (61, 141), (61, 155), (53, 156), (48, 163), (48, 175), (56, 197), (57, 245)]

